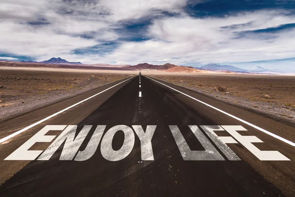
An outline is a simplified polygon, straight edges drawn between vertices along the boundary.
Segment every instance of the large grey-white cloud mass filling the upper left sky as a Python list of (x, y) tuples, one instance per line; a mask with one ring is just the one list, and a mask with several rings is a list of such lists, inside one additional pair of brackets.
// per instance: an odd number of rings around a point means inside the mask
[(185, 0), (3, 0), (0, 52), (37, 60), (71, 55), (127, 37), (118, 34), (118, 21), (177, 12), (184, 5)]

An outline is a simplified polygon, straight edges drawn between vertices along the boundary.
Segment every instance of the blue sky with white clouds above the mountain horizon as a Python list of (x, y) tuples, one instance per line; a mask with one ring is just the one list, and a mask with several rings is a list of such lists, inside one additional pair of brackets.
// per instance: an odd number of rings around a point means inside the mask
[(295, 70), (295, 0), (1, 0), (0, 59)]

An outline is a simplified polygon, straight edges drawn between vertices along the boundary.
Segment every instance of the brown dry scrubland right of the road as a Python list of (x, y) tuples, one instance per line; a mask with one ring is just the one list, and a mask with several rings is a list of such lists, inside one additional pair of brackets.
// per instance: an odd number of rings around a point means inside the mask
[[(295, 125), (295, 76), (246, 74), (150, 76)], [(225, 92), (218, 92), (218, 87)]]

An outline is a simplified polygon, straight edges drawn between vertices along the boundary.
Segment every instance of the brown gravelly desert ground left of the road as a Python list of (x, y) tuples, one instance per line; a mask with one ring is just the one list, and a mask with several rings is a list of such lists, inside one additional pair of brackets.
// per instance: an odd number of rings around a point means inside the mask
[(0, 122), (130, 74), (0, 70)]

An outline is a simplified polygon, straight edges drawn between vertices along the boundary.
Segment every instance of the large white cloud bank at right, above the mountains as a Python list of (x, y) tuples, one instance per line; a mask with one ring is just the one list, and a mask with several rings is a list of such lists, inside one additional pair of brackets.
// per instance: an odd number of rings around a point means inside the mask
[[(295, 30), (249, 33), (294, 23), (288, 12), (244, 12), (225, 18), (171, 17), (155, 20), (148, 29), (152, 40), (123, 43), (107, 59), (153, 62), (172, 58), (177, 64), (235, 63), (294, 56)], [(227, 27), (227, 28), (225, 28)], [(234, 28), (233, 28), (234, 27)]]

